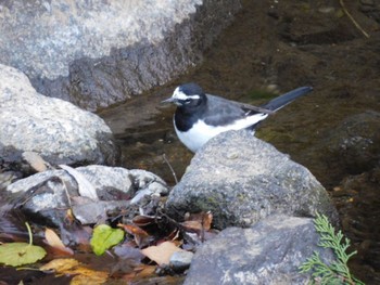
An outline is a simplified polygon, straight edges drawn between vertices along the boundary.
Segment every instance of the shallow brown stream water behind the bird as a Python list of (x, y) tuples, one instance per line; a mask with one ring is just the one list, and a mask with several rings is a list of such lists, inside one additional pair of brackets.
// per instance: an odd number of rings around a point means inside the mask
[(175, 107), (160, 104), (176, 86), (195, 81), (210, 93), (251, 104), (313, 86), (313, 93), (270, 116), (257, 137), (307, 167), (329, 191), (358, 250), (354, 273), (380, 284), (379, 167), (347, 172), (341, 157), (329, 157), (321, 147), (345, 118), (380, 112), (380, 37), (363, 38), (347, 18), (337, 16), (334, 1), (306, 2), (243, 1), (202, 65), (99, 115), (119, 142), (124, 167), (152, 171), (174, 185), (168, 163), (180, 179), (193, 156), (175, 135)]

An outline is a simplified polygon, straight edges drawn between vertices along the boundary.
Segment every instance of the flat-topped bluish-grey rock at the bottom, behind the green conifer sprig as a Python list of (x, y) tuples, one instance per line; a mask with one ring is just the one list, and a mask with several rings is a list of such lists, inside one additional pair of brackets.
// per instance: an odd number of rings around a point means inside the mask
[(318, 241), (307, 218), (275, 216), (251, 229), (229, 228), (197, 250), (185, 285), (307, 284), (311, 275), (299, 267), (314, 250), (333, 260)]

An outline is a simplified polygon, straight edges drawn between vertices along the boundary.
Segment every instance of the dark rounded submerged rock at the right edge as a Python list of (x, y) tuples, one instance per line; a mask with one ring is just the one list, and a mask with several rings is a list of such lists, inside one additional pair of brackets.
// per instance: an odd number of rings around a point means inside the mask
[(321, 146), (329, 168), (359, 174), (380, 161), (380, 113), (353, 115), (332, 129)]

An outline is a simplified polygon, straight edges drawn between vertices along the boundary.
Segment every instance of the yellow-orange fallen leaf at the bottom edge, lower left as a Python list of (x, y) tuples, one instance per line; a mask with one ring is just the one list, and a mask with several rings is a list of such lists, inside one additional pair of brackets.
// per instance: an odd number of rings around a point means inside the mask
[(54, 259), (40, 267), (40, 270), (54, 270), (58, 275), (75, 275), (71, 285), (103, 284), (109, 277), (107, 272), (88, 269), (73, 258)]

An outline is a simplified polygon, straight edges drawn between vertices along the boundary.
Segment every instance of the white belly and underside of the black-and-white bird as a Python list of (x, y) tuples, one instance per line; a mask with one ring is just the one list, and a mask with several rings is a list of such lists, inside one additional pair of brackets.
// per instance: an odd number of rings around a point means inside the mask
[(250, 126), (257, 124), (258, 121), (265, 119), (268, 115), (257, 114), (254, 116), (246, 117), (241, 120), (237, 120), (233, 125), (214, 127), (204, 124), (202, 120), (198, 120), (190, 130), (187, 132), (181, 132), (176, 128), (174, 124), (176, 133), (179, 140), (193, 153), (203, 146), (210, 139), (215, 135), (229, 131), (229, 130), (240, 130), (245, 129)]

